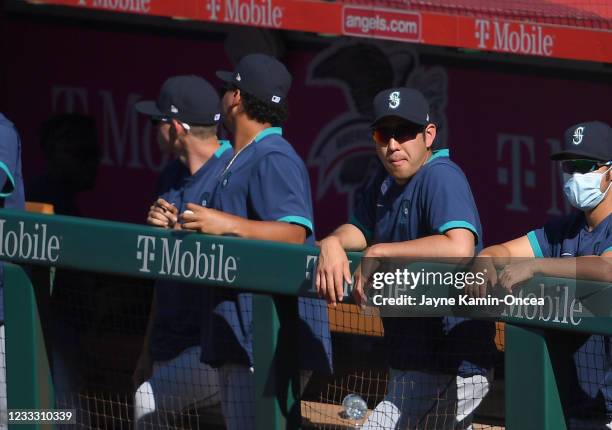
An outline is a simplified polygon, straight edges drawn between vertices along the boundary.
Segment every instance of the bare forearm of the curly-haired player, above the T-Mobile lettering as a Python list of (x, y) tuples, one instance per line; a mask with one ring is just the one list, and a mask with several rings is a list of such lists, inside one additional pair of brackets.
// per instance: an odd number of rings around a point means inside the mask
[(303, 244), (306, 228), (281, 221), (255, 221), (234, 216), (232, 234), (245, 239)]

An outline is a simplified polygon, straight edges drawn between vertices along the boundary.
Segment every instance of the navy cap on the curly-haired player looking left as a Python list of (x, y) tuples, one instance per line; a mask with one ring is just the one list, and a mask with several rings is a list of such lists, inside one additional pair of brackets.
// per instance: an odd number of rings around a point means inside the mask
[(285, 65), (265, 54), (249, 54), (233, 72), (218, 71), (217, 77), (272, 105), (285, 102), (292, 81)]

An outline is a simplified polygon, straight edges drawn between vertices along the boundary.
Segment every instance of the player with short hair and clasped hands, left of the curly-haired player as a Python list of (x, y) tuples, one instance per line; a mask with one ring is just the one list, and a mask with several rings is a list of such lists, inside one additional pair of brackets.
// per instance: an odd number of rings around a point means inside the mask
[[(227, 141), (217, 140), (220, 120), (215, 89), (197, 76), (168, 79), (157, 102), (136, 109), (159, 121), (160, 140), (178, 155), (162, 175), (164, 190), (149, 210), (147, 223), (180, 229), (179, 211), (188, 203), (207, 204), (221, 169), (232, 155)], [(145, 336), (134, 372), (137, 428), (167, 428), (165, 411), (180, 412), (198, 402), (218, 403), (217, 372), (200, 363), (201, 286), (158, 281)]]

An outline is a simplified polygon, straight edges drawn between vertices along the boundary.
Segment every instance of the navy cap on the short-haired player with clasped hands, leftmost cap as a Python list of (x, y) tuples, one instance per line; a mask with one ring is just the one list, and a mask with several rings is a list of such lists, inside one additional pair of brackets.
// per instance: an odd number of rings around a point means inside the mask
[(157, 101), (144, 100), (135, 109), (154, 119), (177, 119), (191, 125), (219, 122), (219, 95), (199, 76), (173, 76), (166, 80)]

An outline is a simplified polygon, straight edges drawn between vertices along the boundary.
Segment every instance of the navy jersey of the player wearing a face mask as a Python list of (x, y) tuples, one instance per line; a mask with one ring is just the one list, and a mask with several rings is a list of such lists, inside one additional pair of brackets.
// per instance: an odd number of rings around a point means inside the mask
[[(573, 213), (548, 222), (527, 233), (536, 257), (572, 258), (602, 255), (612, 251), (612, 215), (589, 231), (584, 212)], [(568, 347), (565, 371), (569, 380), (580, 386), (573, 390), (570, 415), (605, 410), (612, 414), (612, 338), (608, 336), (563, 333)]]

